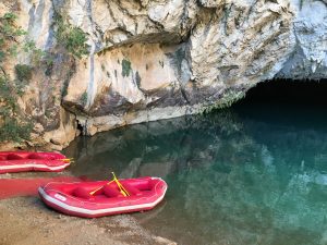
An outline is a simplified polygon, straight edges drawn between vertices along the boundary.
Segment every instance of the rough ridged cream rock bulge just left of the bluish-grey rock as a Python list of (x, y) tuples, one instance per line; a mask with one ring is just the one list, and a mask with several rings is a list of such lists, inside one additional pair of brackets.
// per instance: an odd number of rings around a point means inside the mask
[(233, 1), (205, 13), (190, 38), (195, 79), (207, 86), (250, 85), (271, 78), (292, 50), (287, 3)]

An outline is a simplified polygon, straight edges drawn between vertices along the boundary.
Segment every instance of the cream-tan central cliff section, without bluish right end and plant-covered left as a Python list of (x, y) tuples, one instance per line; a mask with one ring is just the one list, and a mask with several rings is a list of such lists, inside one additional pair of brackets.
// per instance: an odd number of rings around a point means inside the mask
[(287, 61), (293, 14), (288, 1), (98, 0), (74, 8), (68, 17), (95, 53), (78, 62), (65, 108), (81, 108), (94, 134), (233, 100)]

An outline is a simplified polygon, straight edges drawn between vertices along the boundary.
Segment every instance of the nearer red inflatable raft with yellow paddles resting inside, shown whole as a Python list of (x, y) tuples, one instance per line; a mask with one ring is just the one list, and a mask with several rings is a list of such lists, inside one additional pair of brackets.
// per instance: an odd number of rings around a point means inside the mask
[[(122, 185), (129, 196), (121, 193)], [(167, 191), (160, 177), (126, 179), (117, 182), (48, 183), (39, 187), (41, 199), (49, 207), (70, 215), (96, 218), (153, 209)]]

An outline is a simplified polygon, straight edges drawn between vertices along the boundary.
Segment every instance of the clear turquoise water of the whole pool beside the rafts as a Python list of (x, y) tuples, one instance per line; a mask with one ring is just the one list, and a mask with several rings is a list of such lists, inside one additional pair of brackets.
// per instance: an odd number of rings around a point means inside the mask
[(133, 217), (179, 244), (327, 244), (326, 115), (243, 105), (82, 137), (65, 154), (78, 176), (164, 177), (164, 203)]

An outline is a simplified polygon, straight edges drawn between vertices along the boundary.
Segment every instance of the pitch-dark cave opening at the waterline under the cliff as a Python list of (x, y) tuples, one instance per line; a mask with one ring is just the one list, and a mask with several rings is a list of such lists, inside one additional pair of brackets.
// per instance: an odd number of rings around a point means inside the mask
[(231, 109), (242, 118), (266, 123), (327, 125), (327, 79), (263, 82)]

